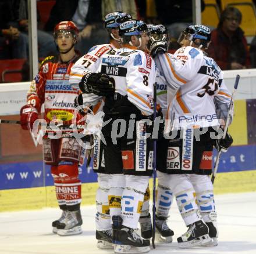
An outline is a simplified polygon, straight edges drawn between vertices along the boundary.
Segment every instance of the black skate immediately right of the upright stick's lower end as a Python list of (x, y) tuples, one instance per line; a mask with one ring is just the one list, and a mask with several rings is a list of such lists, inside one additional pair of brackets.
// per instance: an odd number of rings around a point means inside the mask
[(173, 231), (167, 225), (167, 217), (156, 216), (155, 217), (155, 228), (157, 240), (159, 242), (172, 242), (174, 235)]

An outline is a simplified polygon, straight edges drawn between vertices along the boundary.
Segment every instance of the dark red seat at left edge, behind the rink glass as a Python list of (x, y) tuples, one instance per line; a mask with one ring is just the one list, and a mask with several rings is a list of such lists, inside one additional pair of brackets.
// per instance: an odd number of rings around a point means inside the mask
[(0, 60), (0, 81), (20, 82), (22, 81), (22, 67), (27, 59)]

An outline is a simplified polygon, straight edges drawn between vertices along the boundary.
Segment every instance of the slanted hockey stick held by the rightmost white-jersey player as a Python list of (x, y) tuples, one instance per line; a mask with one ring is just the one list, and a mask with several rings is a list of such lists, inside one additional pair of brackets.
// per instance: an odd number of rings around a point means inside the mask
[[(231, 119), (231, 111), (232, 111), (233, 104), (234, 104), (234, 95), (236, 94), (239, 79), (240, 79), (240, 75), (236, 75), (236, 81), (234, 81), (234, 90), (233, 90), (232, 97), (231, 97), (230, 104), (229, 104), (229, 112), (227, 114), (227, 121), (226, 121), (226, 124), (225, 124), (222, 139), (225, 139), (226, 134), (227, 134), (227, 128), (229, 126), (229, 121)], [(219, 150), (218, 154), (217, 154), (216, 161), (215, 161), (215, 165), (214, 165), (214, 172), (212, 172), (212, 178), (211, 178), (212, 183), (214, 183), (214, 180), (215, 180), (215, 177), (216, 177), (216, 173), (217, 173), (218, 166), (219, 166), (219, 159), (221, 158), (221, 153), (222, 153), (221, 150)]]

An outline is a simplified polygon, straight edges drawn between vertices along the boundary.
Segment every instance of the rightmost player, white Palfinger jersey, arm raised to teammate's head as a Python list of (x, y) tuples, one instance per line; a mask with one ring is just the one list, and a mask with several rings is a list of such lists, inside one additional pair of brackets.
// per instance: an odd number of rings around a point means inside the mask
[[(214, 192), (209, 175), (212, 148), (227, 148), (232, 137), (220, 139), (218, 126), (227, 117), (230, 93), (223, 72), (204, 50), (211, 40), (208, 27), (186, 28), (179, 38), (183, 46), (174, 55), (165, 53), (165, 43), (152, 43), (151, 55), (168, 82), (169, 136), (167, 172), (187, 232), (177, 238), (180, 248), (217, 245), (218, 228)], [(221, 123), (220, 123), (221, 122)], [(169, 133), (169, 131), (171, 132)], [(223, 134), (223, 132), (222, 132)], [(216, 137), (218, 137), (216, 139)]]

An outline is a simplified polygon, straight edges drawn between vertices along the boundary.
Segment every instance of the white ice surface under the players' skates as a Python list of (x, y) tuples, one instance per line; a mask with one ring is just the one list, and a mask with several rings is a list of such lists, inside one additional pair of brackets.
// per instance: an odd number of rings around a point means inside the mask
[[(186, 227), (173, 204), (169, 226), (175, 231), (172, 244), (156, 244), (150, 253), (256, 253), (256, 192), (215, 196), (218, 211), (219, 245), (211, 248), (179, 249), (176, 238)], [(58, 209), (0, 213), (1, 254), (96, 254), (113, 253), (96, 248), (95, 206), (83, 206), (83, 234), (60, 237), (51, 232)]]

